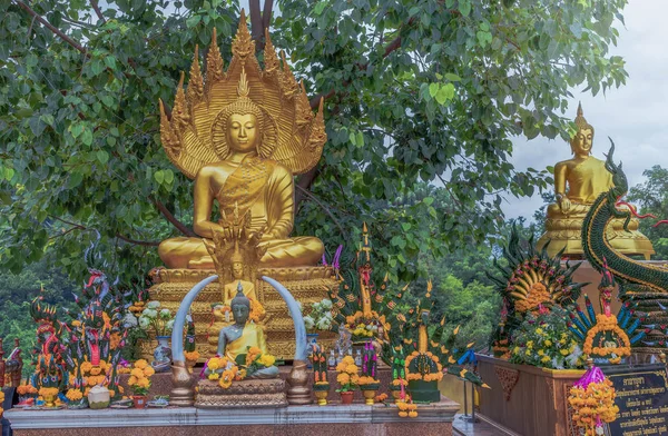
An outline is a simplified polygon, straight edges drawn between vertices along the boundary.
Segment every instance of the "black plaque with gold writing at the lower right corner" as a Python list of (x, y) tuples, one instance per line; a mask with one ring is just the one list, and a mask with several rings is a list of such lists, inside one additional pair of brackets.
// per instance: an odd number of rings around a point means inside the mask
[(607, 425), (609, 436), (668, 435), (668, 373), (666, 366), (601, 368), (612, 382), (617, 419)]

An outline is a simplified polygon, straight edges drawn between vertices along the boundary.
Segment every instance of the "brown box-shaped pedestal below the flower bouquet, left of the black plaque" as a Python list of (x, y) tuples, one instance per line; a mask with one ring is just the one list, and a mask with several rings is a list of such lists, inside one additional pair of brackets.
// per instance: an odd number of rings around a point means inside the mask
[(522, 436), (570, 436), (568, 393), (583, 370), (543, 369), (478, 356), (480, 414)]

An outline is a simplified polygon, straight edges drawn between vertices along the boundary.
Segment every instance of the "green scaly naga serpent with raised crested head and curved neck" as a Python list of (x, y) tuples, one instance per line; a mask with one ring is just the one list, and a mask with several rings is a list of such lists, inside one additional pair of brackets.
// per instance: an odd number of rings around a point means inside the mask
[[(668, 334), (668, 268), (631, 259), (610, 244), (608, 225), (615, 218), (625, 219), (623, 228), (633, 216), (631, 207), (621, 201), (628, 191), (628, 181), (621, 169), (621, 162), (615, 164), (612, 156), (615, 142), (606, 160), (606, 169), (612, 175), (613, 187), (601, 194), (591, 208), (582, 225), (582, 249), (591, 266), (601, 272), (607, 266), (619, 284), (619, 298), (629, 303), (636, 315), (644, 323), (647, 338), (636, 346), (635, 350), (642, 354), (660, 354), (666, 349)], [(654, 217), (650, 215), (639, 218)], [(666, 222), (666, 221), (660, 221)]]

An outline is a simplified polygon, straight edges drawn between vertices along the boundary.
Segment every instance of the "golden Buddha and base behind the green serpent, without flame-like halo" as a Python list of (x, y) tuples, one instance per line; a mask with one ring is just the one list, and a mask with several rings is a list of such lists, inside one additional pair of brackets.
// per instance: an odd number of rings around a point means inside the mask
[[(548, 207), (547, 231), (538, 241), (539, 249), (550, 241), (549, 256), (556, 256), (562, 248), (563, 255), (570, 258), (582, 256), (582, 221), (598, 196), (612, 187), (606, 162), (591, 156), (593, 127), (584, 119), (581, 105), (578, 106), (576, 127), (578, 130), (570, 142), (574, 156), (554, 166), (557, 202)], [(626, 231), (623, 220), (616, 219), (608, 227), (608, 240), (625, 255), (642, 255), (649, 260), (655, 250), (638, 227), (639, 221), (633, 218)]]

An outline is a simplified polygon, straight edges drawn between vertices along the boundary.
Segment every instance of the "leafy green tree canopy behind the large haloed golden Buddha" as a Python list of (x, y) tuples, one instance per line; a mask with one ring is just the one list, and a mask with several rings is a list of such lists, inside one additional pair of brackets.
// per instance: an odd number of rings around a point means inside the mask
[[(544, 171), (509, 164), (510, 138), (568, 138), (569, 89), (627, 77), (609, 53), (626, 0), (249, 4), (257, 48), (271, 24), (314, 103), (325, 97), (297, 232), (333, 249), (367, 220), (393, 277), (485, 238), (504, 192), (544, 188)], [(159, 265), (159, 240), (191, 234), (191, 182), (161, 150), (157, 101), (214, 28), (229, 57), (238, 16), (222, 0), (0, 3), (2, 266), (47, 254), (82, 274), (99, 235), (115, 272), (136, 275)]]

